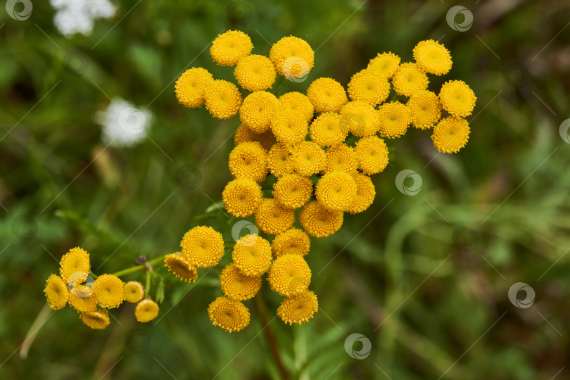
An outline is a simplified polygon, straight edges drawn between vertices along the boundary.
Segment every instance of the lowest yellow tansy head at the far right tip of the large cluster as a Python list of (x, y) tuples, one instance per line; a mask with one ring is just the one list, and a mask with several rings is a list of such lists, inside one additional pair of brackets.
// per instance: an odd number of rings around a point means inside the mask
[(467, 144), (469, 132), (467, 120), (450, 116), (433, 127), (431, 140), (441, 153), (457, 153)]

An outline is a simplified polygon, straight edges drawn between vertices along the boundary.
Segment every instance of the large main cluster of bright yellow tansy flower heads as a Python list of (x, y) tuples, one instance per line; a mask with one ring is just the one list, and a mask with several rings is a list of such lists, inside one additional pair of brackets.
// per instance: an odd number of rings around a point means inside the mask
[[(238, 30), (220, 34), (210, 48), (215, 63), (235, 66), (241, 90), (215, 80), (204, 68), (186, 70), (175, 84), (183, 106), (205, 104), (222, 120), (239, 114), (241, 125), (229, 154), (234, 179), (222, 201), (234, 217), (255, 215), (259, 229), (275, 235), (272, 243), (243, 236), (234, 246), (232, 264), (222, 270), (224, 296), (210, 304), (208, 313), (213, 324), (227, 331), (248, 325), (250, 314), (242, 301), (258, 293), (266, 272), (271, 289), (284, 296), (277, 315), (289, 324), (312, 318), (317, 296), (308, 290), (311, 271), (303, 258), (310, 236), (331, 236), (341, 228), (344, 213), (362, 213), (372, 204), (376, 191), (370, 175), (388, 165), (383, 138), (402, 137), (410, 125), (433, 127), (436, 149), (455, 153), (467, 144), (464, 118), (476, 102), (462, 81), (445, 82), (439, 94), (427, 89), (428, 74), (444, 75), (452, 66), (450, 52), (433, 40), (414, 47), (414, 62), (400, 63), (394, 53), (379, 53), (346, 89), (320, 77), (306, 94), (293, 91), (279, 97), (277, 90), (270, 91), (277, 75), (298, 82), (312, 69), (314, 52), (293, 36), (273, 44), (269, 57), (251, 54), (252, 49), (250, 37)], [(395, 96), (407, 101), (386, 102), (392, 87)], [(264, 198), (260, 186), (268, 175), (274, 177), (272, 198)], [(299, 208), (302, 229), (293, 227)], [(197, 267), (216, 265), (224, 253), (222, 235), (211, 227), (191, 229), (181, 246), (182, 253), (172, 258), (180, 269), (172, 272), (186, 280), (195, 280)]]

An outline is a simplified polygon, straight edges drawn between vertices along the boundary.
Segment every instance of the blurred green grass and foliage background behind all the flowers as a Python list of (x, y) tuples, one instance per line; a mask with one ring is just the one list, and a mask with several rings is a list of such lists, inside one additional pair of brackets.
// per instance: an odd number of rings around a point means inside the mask
[[(448, 23), (457, 4), (439, 0), (115, 5), (114, 18), (72, 38), (53, 26), (47, 2), (35, 1), (27, 20), (0, 10), (1, 379), (280, 379), (276, 356), (290, 379), (570, 377), (570, 140), (559, 130), (570, 117), (568, 1), (465, 2), (473, 23), (464, 31), (454, 27), (469, 26), (466, 13)], [(281, 92), (321, 76), (346, 85), (378, 52), (410, 61), (418, 41), (440, 40), (454, 65), (431, 76), (430, 89), (448, 79), (474, 89), (469, 144), (439, 155), (417, 129), (388, 141), (391, 166), (373, 177), (374, 205), (312, 240), (319, 312), (308, 324), (273, 319), (280, 299), (265, 284), (259, 303), (246, 302), (251, 325), (227, 334), (206, 312), (220, 295), (219, 270), (201, 271), (193, 287), (157, 268), (166, 279), (158, 323), (137, 323), (123, 305), (108, 329), (92, 331), (65, 308), (49, 315), (24, 360), (44, 281), (69, 248), (86, 248), (102, 273), (177, 251), (197, 224), (232, 239), (236, 220), (212, 204), (231, 178), (239, 120), (215, 120), (174, 96), (191, 66), (232, 78), (208, 54), (228, 29), (248, 33), (260, 54), (290, 34), (311, 44), (308, 80)], [(105, 148), (94, 122), (115, 96), (154, 115), (132, 148)], [(421, 177), (416, 195), (398, 190), (401, 170)], [(531, 307), (509, 300), (517, 282), (535, 291)], [(355, 333), (363, 337), (350, 346)]]

